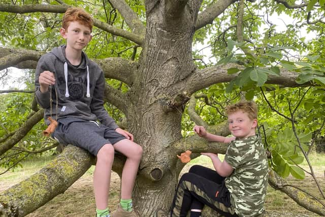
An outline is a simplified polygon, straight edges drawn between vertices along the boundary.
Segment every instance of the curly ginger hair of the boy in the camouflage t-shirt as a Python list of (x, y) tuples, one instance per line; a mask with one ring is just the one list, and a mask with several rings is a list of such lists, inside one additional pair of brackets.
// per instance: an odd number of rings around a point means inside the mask
[(237, 111), (243, 111), (247, 113), (249, 119), (257, 119), (257, 106), (252, 101), (241, 101), (233, 105), (229, 105), (225, 108), (227, 115), (233, 114)]

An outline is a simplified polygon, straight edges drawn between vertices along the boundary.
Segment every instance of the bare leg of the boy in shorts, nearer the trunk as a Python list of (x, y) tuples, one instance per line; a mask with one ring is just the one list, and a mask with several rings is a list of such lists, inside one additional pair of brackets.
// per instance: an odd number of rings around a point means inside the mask
[(114, 144), (114, 149), (126, 156), (121, 178), (121, 199), (131, 199), (142, 157), (142, 147), (131, 140), (123, 139)]

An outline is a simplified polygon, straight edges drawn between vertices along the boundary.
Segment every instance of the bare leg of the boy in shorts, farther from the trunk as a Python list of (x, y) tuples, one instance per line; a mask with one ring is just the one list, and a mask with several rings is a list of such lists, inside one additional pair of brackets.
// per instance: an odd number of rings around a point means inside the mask
[(93, 172), (93, 191), (97, 209), (106, 209), (110, 191), (111, 170), (114, 161), (114, 147), (105, 144), (97, 154)]

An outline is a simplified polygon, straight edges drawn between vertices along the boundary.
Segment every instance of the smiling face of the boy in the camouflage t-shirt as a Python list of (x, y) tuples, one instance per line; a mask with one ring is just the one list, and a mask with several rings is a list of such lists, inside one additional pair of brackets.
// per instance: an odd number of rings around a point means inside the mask
[(251, 120), (246, 112), (239, 110), (230, 114), (228, 116), (228, 123), (232, 135), (239, 139), (245, 139), (255, 135), (257, 120)]

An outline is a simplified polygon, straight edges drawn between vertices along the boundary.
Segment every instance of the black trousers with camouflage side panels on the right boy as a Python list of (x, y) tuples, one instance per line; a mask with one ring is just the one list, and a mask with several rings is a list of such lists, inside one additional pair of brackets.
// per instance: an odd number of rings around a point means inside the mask
[(171, 216), (185, 217), (190, 209), (203, 209), (204, 205), (224, 216), (238, 216), (231, 208), (224, 177), (215, 170), (194, 165), (178, 182)]

